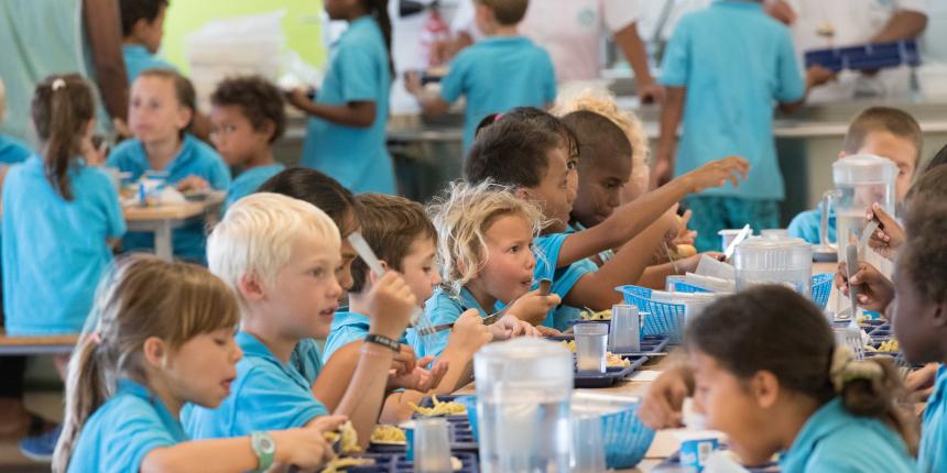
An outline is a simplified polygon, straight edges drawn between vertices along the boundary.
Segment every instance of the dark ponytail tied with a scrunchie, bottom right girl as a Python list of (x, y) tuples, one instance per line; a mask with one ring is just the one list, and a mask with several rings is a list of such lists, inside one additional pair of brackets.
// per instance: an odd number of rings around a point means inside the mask
[(917, 454), (917, 424), (897, 404), (905, 397), (905, 389), (890, 356), (856, 361), (850, 348), (837, 346), (830, 376), (846, 410), (880, 419), (901, 436), (912, 457)]

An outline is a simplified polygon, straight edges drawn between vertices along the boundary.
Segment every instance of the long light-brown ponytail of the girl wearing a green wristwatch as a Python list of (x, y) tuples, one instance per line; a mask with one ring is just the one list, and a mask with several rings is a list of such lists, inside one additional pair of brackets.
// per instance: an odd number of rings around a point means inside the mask
[(53, 454), (55, 473), (65, 473), (68, 469), (83, 426), (89, 416), (105, 404), (109, 393), (115, 391), (113, 386), (106, 386), (107, 370), (102, 363), (98, 337), (85, 337), (69, 360), (66, 375), (66, 418)]

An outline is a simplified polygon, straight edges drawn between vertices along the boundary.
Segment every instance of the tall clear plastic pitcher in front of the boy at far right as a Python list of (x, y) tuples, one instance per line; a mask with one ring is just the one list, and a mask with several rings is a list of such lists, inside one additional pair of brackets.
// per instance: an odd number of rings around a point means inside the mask
[(864, 215), (872, 204), (880, 205), (894, 216), (894, 179), (897, 166), (884, 157), (856, 154), (832, 163), (835, 190), (823, 197), (823, 219), (819, 229), (821, 244), (828, 241), (828, 213), (835, 209), (836, 250), (839, 261), (845, 261), (846, 248), (852, 232), (861, 237)]

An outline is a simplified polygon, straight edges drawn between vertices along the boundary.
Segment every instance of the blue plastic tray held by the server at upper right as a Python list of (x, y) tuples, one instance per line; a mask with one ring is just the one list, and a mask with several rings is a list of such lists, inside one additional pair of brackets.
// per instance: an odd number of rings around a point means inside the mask
[(891, 43), (866, 44), (860, 46), (813, 50), (805, 54), (806, 67), (823, 66), (839, 72), (872, 70), (901, 65), (916, 66), (921, 64), (917, 54), (917, 43), (905, 40)]

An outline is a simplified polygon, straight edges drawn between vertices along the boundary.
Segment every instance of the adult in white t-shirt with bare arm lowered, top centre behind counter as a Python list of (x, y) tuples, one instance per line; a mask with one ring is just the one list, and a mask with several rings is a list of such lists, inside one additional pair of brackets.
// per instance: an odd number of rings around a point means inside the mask
[[(451, 22), (457, 37), (451, 53), (481, 37), (474, 22), (474, 1), (458, 2)], [(639, 97), (661, 101), (664, 89), (651, 75), (638, 34), (641, 11), (639, 0), (532, 0), (520, 33), (549, 53), (559, 82), (598, 78), (602, 38), (611, 34), (634, 70)]]

